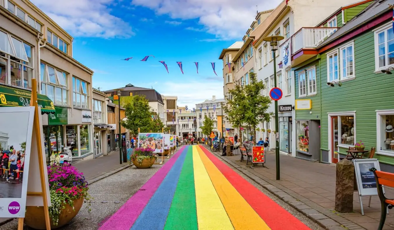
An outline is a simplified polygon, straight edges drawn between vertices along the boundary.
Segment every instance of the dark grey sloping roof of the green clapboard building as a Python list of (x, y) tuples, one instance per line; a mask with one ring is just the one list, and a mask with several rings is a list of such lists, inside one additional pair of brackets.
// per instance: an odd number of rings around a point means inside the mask
[(357, 29), (363, 24), (374, 20), (376, 17), (386, 13), (387, 11), (392, 11), (388, 7), (388, 4), (394, 4), (394, 0), (380, 0), (374, 1), (368, 7), (366, 7), (363, 11), (361, 11), (356, 17), (346, 23), (344, 26), (339, 28), (333, 35), (328, 37), (322, 44), (320, 44), (316, 49), (322, 48), (323, 46), (333, 42), (340, 37), (343, 37), (345, 34)]

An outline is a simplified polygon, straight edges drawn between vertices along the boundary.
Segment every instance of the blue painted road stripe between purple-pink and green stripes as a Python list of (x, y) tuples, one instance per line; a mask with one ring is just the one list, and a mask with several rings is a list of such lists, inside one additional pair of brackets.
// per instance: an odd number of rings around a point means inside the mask
[(177, 162), (175, 162), (171, 170), (168, 172), (162, 184), (160, 184), (159, 188), (156, 190), (153, 197), (148, 202), (147, 206), (145, 206), (141, 215), (139, 215), (130, 230), (164, 229), (175, 189), (177, 188), (179, 175), (182, 170), (186, 154), (188, 153), (188, 148), (190, 148), (190, 146), (183, 149)]

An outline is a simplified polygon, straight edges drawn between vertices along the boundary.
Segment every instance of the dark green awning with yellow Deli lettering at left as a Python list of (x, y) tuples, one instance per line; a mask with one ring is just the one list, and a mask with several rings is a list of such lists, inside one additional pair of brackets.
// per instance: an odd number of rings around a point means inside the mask
[[(30, 106), (31, 96), (28, 90), (0, 85), (0, 106)], [(41, 113), (55, 113), (55, 106), (47, 96), (37, 94), (37, 103)]]

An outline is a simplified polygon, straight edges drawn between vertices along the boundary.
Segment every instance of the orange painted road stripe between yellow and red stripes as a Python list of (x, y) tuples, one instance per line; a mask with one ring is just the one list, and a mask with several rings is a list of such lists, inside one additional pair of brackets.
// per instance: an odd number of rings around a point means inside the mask
[(212, 184), (216, 189), (217, 195), (229, 215), (232, 225), (235, 229), (254, 230), (256, 226), (261, 230), (270, 230), (271, 228), (263, 219), (253, 210), (253, 208), (243, 199), (241, 194), (232, 186), (225, 176), (209, 160), (203, 150), (198, 147), (198, 152), (203, 162)]

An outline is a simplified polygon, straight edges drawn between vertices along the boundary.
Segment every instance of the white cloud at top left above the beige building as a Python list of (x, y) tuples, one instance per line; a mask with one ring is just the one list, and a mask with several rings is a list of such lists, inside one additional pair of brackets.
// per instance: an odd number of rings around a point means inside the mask
[(130, 37), (130, 25), (111, 14), (115, 0), (31, 0), (59, 26), (77, 37)]

